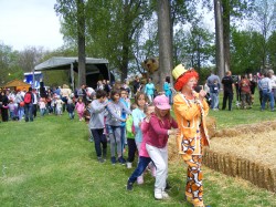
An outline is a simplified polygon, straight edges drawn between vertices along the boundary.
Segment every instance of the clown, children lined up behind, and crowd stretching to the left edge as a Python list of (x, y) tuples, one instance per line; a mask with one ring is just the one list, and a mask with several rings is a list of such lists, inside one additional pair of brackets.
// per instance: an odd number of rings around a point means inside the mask
[[(205, 92), (194, 91), (199, 80), (194, 70), (178, 65), (172, 75), (176, 79), (174, 87), (166, 77), (162, 94), (156, 93), (151, 79), (147, 84), (141, 84), (139, 77), (134, 82), (134, 90), (130, 90), (127, 81), (114, 85), (99, 81), (96, 89), (82, 85), (74, 92), (65, 84), (40, 90), (40, 93), (32, 87), (15, 92), (2, 90), (2, 121), (32, 122), (38, 116), (38, 110), (42, 117), (45, 114), (60, 116), (67, 111), (68, 120), (74, 120), (76, 112), (77, 118), (87, 123), (88, 138), (94, 142), (98, 163), (107, 161), (109, 144), (110, 164), (134, 168), (126, 180), (127, 190), (132, 190), (136, 182), (142, 184), (145, 170), (150, 170), (156, 180), (156, 199), (169, 198), (168, 138), (177, 137), (179, 153), (188, 164), (185, 199), (201, 207), (204, 206), (202, 147), (209, 145), (204, 117), (209, 105), (204, 99)], [(172, 99), (176, 90), (179, 93)], [(176, 120), (171, 116), (172, 104)], [(134, 166), (135, 159), (137, 166)]]

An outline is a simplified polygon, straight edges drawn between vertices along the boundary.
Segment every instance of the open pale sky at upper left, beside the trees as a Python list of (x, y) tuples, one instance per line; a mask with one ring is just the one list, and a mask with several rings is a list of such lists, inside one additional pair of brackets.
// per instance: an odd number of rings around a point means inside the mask
[(54, 50), (63, 45), (56, 0), (0, 0), (0, 44)]

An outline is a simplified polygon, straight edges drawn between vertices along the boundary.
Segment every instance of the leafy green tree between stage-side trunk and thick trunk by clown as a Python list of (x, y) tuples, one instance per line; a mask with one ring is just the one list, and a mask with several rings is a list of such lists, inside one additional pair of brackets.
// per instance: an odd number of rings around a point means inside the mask
[(152, 10), (146, 0), (88, 0), (87, 53), (105, 56), (125, 80), (129, 62), (135, 60), (135, 35)]

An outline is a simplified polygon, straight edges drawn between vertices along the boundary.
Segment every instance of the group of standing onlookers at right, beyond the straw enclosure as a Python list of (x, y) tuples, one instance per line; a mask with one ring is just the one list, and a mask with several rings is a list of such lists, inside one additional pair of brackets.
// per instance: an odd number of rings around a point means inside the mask
[(214, 73), (211, 73), (204, 84), (204, 91), (210, 95), (210, 107), (213, 111), (220, 110), (219, 96), (221, 91), (223, 92), (221, 110), (227, 108), (229, 111), (232, 111), (234, 107), (243, 110), (252, 108), (255, 102), (255, 91), (258, 91), (261, 111), (265, 111), (266, 105), (268, 105), (267, 103), (269, 103), (268, 108), (274, 112), (276, 76), (273, 70), (267, 70), (264, 73), (256, 73), (255, 75), (248, 73), (236, 76), (233, 76), (232, 72), (227, 71), (222, 80)]

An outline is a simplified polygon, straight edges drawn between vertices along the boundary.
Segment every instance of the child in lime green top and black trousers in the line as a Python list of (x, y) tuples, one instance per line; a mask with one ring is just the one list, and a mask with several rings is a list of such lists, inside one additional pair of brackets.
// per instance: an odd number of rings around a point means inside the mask
[[(130, 110), (134, 111), (137, 107), (136, 103), (132, 103), (130, 105)], [(127, 146), (128, 146), (128, 158), (127, 158), (127, 168), (132, 167), (132, 162), (135, 161), (135, 153), (137, 149), (136, 143), (135, 143), (135, 131), (134, 131), (134, 118), (130, 114), (127, 117), (126, 122), (126, 128), (127, 128)]]

